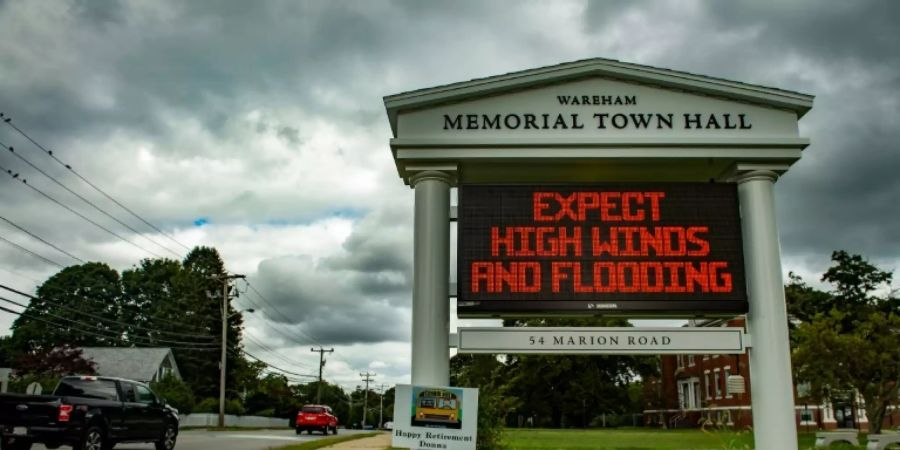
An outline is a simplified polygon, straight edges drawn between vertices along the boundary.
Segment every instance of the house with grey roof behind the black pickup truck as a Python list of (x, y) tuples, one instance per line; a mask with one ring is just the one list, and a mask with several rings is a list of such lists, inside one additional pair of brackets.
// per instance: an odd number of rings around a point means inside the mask
[(97, 375), (149, 383), (166, 375), (181, 379), (172, 349), (167, 347), (81, 347), (82, 357), (97, 368)]

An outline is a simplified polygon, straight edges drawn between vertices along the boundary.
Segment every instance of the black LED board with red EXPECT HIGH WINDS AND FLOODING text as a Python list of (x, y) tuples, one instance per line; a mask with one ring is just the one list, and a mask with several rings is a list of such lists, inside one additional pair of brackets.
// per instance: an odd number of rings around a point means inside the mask
[(463, 185), (458, 314), (747, 311), (737, 188)]

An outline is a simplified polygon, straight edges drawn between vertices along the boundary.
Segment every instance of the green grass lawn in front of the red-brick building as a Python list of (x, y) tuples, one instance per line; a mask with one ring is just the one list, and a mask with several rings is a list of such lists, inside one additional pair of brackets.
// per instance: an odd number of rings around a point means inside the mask
[[(745, 450), (753, 449), (753, 434), (751, 432), (703, 432), (700, 430), (643, 428), (617, 430), (509, 429), (506, 432), (506, 442), (509, 450)], [(814, 442), (815, 433), (800, 434), (801, 450), (811, 449)], [(849, 450), (853, 447), (835, 445), (830, 449)]]

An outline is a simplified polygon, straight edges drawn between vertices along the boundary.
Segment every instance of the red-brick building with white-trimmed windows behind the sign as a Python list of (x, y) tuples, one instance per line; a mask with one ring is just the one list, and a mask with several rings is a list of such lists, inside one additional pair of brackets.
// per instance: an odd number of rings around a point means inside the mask
[[(690, 326), (744, 327), (743, 317), (692, 321)], [(644, 391), (644, 422), (664, 428), (726, 426), (746, 429), (753, 426), (750, 364), (740, 355), (662, 355), (659, 378), (647, 380)], [(732, 377), (739, 375), (743, 380)], [(732, 392), (742, 381), (744, 392)], [(740, 390), (740, 389), (738, 389)], [(794, 385), (796, 425), (800, 430), (837, 428), (869, 429), (865, 403), (855, 392), (834, 393), (828, 401), (810, 399), (808, 387)], [(900, 409), (888, 410), (884, 426), (900, 425)]]

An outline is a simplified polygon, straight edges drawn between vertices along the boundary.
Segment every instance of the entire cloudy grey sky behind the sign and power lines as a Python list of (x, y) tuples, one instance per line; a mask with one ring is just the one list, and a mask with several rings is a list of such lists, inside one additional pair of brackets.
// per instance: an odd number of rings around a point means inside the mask
[[(0, 1), (0, 111), (187, 245), (218, 248), (247, 293), (247, 349), (352, 387), (409, 380), (412, 192), (382, 97), (604, 57), (816, 96), (812, 145), (777, 184), (785, 270), (832, 250), (900, 261), (900, 3), (892, 1)], [(176, 253), (29, 145), (0, 142)], [(165, 255), (7, 151), (0, 166)], [(0, 177), (0, 212), (84, 260), (152, 256)], [(0, 222), (0, 237), (72, 258)], [(58, 270), (0, 241), (0, 280)], [(0, 329), (12, 317), (0, 314)], [(256, 342), (265, 344), (261, 348)]]

